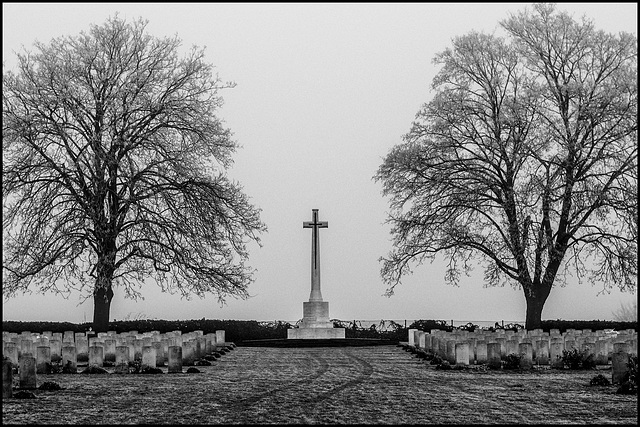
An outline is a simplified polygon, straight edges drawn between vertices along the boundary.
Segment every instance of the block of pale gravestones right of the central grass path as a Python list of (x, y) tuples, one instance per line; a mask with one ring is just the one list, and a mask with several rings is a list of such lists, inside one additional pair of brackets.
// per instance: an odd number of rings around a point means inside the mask
[(596, 364), (613, 368), (613, 383), (627, 372), (629, 356), (638, 355), (638, 336), (634, 329), (615, 332), (569, 329), (564, 334), (557, 329), (533, 331), (447, 332), (418, 329), (408, 331), (409, 347), (438, 355), (450, 364), (487, 364), (500, 367), (509, 354), (520, 357), (521, 368), (536, 365), (564, 366), (563, 351), (577, 350), (584, 356), (593, 355)]

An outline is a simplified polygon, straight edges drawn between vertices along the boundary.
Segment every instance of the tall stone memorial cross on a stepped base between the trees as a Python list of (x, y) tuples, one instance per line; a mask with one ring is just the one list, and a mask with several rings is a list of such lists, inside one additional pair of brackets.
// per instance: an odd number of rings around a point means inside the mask
[(303, 228), (311, 228), (311, 295), (302, 303), (302, 324), (287, 330), (288, 339), (344, 338), (344, 328), (334, 328), (329, 320), (329, 302), (323, 301), (320, 291), (320, 228), (329, 227), (326, 221), (318, 221), (318, 209), (312, 210), (312, 221), (304, 222)]

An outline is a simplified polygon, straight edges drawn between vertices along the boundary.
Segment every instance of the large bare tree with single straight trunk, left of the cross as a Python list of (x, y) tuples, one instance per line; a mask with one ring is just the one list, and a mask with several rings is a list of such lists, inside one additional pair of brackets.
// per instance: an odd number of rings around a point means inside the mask
[(3, 72), (3, 295), (72, 291), (106, 330), (114, 290), (247, 297), (266, 230), (226, 176), (222, 83), (193, 47), (117, 16)]

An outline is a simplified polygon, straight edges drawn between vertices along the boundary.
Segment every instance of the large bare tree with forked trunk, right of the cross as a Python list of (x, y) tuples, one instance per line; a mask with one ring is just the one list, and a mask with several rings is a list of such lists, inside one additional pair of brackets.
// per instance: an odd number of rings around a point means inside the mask
[(437, 254), (453, 284), (480, 262), (535, 329), (568, 273), (636, 289), (637, 38), (545, 4), (501, 24), (436, 56), (433, 99), (374, 177), (394, 237), (381, 274), (391, 295)]

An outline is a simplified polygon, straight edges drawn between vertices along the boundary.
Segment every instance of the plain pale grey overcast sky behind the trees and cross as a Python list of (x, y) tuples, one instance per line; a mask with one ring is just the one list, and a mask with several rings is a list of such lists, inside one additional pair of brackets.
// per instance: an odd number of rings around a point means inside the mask
[[(153, 283), (144, 301), (118, 289), (111, 318), (288, 320), (309, 299), (311, 230), (319, 209), (322, 295), (331, 318), (523, 321), (523, 292), (484, 288), (482, 270), (459, 287), (444, 284), (442, 259), (414, 269), (383, 296), (378, 258), (391, 250), (388, 203), (372, 180), (384, 156), (408, 132), (432, 96), (431, 60), (455, 36), (493, 32), (527, 3), (3, 3), (4, 69), (21, 46), (88, 31), (110, 16), (149, 21), (155, 36), (177, 34), (185, 49), (206, 46), (222, 80), (220, 111), (241, 148), (228, 171), (268, 226), (250, 246), (257, 269), (248, 300), (220, 306), (212, 295), (182, 300)], [(559, 3), (599, 29), (637, 34), (636, 3)], [(612, 319), (637, 295), (570, 280), (552, 290), (542, 318)], [(93, 301), (51, 294), (3, 301), (3, 320), (84, 322)]]

